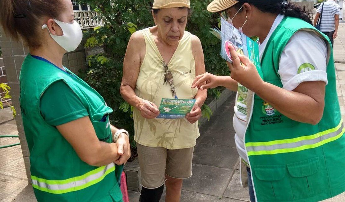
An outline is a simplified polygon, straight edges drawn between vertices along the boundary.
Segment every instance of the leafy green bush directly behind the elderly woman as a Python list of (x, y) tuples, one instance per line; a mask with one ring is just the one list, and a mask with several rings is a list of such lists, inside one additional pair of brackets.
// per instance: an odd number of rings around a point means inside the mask
[[(120, 95), (122, 79), (122, 62), (125, 57), (127, 43), (132, 33), (137, 30), (154, 26), (151, 8), (153, 0), (80, 0), (89, 4), (99, 12), (104, 26), (87, 29), (86, 48), (102, 46), (105, 53), (87, 57), (89, 70), (79, 73), (82, 78), (95, 88), (114, 109), (110, 115), (111, 123), (125, 128), (133, 140), (133, 107), (125, 102)], [(229, 75), (227, 65), (220, 56), (220, 41), (209, 32), (210, 28), (218, 27), (219, 16), (206, 10), (206, 1), (191, 2), (191, 16), (186, 30), (195, 34), (203, 45), (206, 71), (216, 75)], [(215, 56), (216, 55), (216, 56)], [(220, 89), (209, 90), (210, 97), (219, 97)], [(204, 117), (210, 118), (211, 111), (203, 106)], [(132, 141), (132, 147), (135, 142)]]

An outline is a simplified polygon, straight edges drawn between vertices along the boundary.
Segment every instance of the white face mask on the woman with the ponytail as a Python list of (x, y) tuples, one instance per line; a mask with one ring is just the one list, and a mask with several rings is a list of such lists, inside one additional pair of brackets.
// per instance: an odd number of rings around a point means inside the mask
[[(81, 40), (83, 39), (83, 32), (81, 31), (81, 28), (77, 21), (74, 21), (73, 24), (61, 22), (59, 20), (54, 19), (54, 21), (60, 26), (63, 35), (62, 36), (56, 36), (49, 33), (51, 38), (54, 39), (63, 49), (65, 49), (67, 52), (74, 51), (78, 48)], [(46, 24), (43, 24), (42, 29), (46, 29), (48, 26)]]

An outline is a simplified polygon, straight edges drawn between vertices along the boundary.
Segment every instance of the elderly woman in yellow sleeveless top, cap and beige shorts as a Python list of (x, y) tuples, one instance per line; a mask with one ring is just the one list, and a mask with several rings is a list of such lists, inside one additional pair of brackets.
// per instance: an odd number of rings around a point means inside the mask
[[(120, 91), (134, 106), (141, 202), (159, 201), (164, 183), (166, 201), (179, 201), (182, 181), (191, 176), (197, 121), (207, 93), (191, 88), (195, 77), (205, 73), (205, 64), (200, 40), (185, 31), (189, 12), (189, 0), (155, 0), (156, 26), (135, 32), (128, 43)], [(168, 72), (171, 85), (165, 82)], [(177, 97), (196, 99), (186, 118), (155, 119), (162, 98)]]

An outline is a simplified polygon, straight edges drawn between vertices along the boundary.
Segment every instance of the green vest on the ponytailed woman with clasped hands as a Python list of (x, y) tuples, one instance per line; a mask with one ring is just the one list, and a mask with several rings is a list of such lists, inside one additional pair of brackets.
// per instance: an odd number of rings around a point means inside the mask
[(112, 142), (109, 118), (100, 122), (112, 109), (106, 106), (97, 91), (67, 71), (74, 77), (30, 54), (20, 71), (20, 106), (35, 196), (39, 202), (122, 201), (118, 184), (122, 167), (114, 163), (97, 167), (83, 162), (57, 128), (42, 118), (41, 95), (50, 84), (63, 80), (87, 109), (98, 139)]

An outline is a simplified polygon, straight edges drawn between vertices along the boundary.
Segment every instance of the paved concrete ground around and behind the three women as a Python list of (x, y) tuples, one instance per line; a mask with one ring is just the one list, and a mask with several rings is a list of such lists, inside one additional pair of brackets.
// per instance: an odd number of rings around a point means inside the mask
[[(334, 41), (337, 92), (343, 119), (345, 118), (345, 23), (341, 23)], [(194, 151), (193, 176), (184, 181), (182, 202), (249, 201), (248, 189), (239, 184), (238, 154), (232, 128), (234, 96), (214, 113), (211, 121), (200, 128), (201, 137)], [(0, 110), (0, 135), (17, 135), (16, 123), (9, 108)], [(18, 138), (1, 138), (0, 146), (19, 142)], [(129, 191), (131, 202), (139, 193)], [(164, 196), (162, 197), (164, 199)], [(28, 185), (20, 145), (0, 149), (1, 202), (36, 202)], [(161, 200), (164, 201), (164, 200)], [(325, 202), (345, 201), (345, 193)]]

